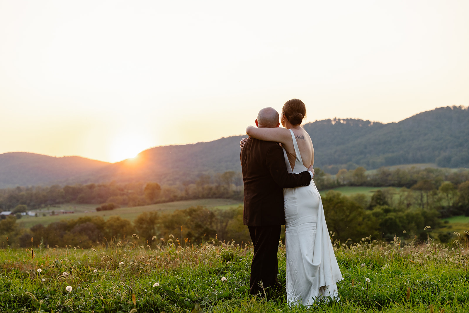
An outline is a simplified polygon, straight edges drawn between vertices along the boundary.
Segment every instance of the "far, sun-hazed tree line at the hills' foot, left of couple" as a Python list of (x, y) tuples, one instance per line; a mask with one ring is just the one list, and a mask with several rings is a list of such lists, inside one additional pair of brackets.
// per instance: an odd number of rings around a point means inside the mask
[(242, 199), (242, 177), (234, 171), (214, 175), (199, 175), (196, 180), (177, 185), (159, 183), (90, 183), (32, 186), (0, 189), (0, 210), (9, 211), (18, 205), (38, 209), (63, 203), (113, 204), (114, 206), (144, 206), (153, 203), (198, 198)]

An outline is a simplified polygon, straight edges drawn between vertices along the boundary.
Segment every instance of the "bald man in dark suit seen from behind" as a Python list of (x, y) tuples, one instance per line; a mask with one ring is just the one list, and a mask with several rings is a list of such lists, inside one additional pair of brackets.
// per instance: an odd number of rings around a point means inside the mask
[[(279, 127), (279, 114), (272, 107), (259, 111), (257, 127)], [(290, 174), (283, 150), (276, 142), (251, 137), (241, 150), (244, 182), (244, 225), (249, 228), (254, 257), (251, 264), (250, 294), (262, 291), (259, 282), (270, 290), (282, 290), (277, 281), (280, 228), (285, 224), (283, 188), (308, 186), (312, 166), (300, 174)], [(269, 290), (266, 289), (266, 290)]]

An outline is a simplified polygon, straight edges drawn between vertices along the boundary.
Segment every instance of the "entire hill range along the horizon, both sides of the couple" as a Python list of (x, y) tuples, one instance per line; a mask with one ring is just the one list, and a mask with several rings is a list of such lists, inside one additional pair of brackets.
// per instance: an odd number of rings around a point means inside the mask
[[(469, 167), (469, 110), (464, 107), (440, 107), (397, 123), (329, 119), (305, 124), (304, 128), (314, 144), (315, 167), (331, 174), (340, 168), (374, 169), (411, 163)], [(139, 153), (135, 160), (114, 164), (81, 157), (3, 153), (0, 188), (113, 180), (192, 182), (200, 174), (241, 171), (241, 138), (159, 146)]]

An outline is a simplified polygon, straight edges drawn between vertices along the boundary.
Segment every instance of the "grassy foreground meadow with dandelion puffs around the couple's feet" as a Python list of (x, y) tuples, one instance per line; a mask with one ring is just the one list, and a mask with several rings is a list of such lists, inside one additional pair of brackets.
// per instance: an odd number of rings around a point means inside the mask
[[(338, 282), (340, 301), (290, 308), (285, 290), (269, 300), (248, 295), (249, 245), (210, 243), (184, 248), (153, 243), (149, 249), (126, 242), (91, 250), (9, 249), (0, 255), (0, 311), (469, 311), (469, 255), (460, 246), (365, 242), (350, 248), (336, 245), (335, 254), (344, 277)], [(283, 286), (285, 270), (281, 245)]]

